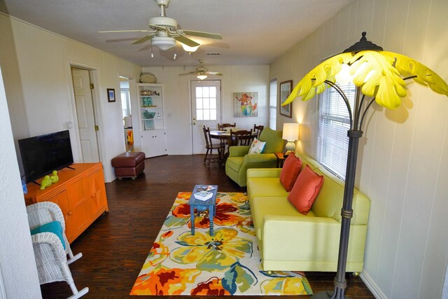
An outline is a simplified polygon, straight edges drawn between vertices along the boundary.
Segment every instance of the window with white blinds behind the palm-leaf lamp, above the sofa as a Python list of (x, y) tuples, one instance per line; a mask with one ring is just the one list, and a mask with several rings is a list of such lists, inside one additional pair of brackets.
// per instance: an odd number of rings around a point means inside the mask
[[(349, 98), (350, 106), (355, 101), (356, 86), (353, 83), (339, 85)], [(345, 179), (347, 152), (349, 151), (349, 111), (342, 97), (334, 88), (321, 93), (318, 107), (318, 130), (316, 160)]]

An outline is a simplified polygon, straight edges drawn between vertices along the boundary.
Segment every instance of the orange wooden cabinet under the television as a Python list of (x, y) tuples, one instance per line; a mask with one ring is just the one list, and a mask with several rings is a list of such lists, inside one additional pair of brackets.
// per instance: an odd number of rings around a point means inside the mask
[(25, 195), (27, 205), (36, 202), (55, 202), (59, 205), (70, 243), (104, 211), (109, 211), (102, 164), (78, 163), (71, 167), (74, 169), (59, 170), (59, 181), (44, 190), (40, 190), (35, 183), (28, 183), (28, 193)]

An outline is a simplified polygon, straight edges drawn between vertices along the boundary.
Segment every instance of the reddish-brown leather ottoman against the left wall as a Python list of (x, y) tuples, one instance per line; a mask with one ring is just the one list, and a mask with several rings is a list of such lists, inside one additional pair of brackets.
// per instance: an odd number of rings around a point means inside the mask
[(115, 175), (123, 178), (136, 179), (145, 169), (145, 153), (139, 151), (122, 153), (112, 159)]

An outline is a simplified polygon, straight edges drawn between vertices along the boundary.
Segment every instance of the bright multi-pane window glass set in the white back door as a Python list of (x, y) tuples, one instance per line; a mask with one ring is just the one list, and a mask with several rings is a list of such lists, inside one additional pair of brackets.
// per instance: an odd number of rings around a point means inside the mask
[(216, 86), (196, 87), (197, 120), (216, 120)]

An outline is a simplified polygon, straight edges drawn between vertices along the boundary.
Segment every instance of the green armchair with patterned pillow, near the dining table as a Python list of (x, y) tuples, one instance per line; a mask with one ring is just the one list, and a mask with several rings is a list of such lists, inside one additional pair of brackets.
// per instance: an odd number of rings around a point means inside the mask
[(266, 127), (260, 134), (260, 141), (266, 142), (262, 153), (248, 154), (250, 146), (230, 146), (229, 157), (225, 162), (225, 174), (235, 181), (240, 187), (246, 186), (246, 172), (249, 168), (273, 168), (276, 167), (274, 153), (283, 151), (284, 141), (282, 132)]

